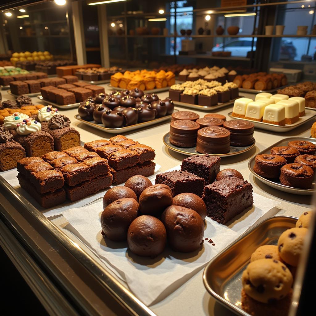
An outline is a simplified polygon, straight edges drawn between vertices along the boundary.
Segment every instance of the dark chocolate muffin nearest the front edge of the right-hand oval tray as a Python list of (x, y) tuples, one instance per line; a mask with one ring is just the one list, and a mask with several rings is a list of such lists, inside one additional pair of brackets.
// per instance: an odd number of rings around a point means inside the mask
[(299, 163), (289, 163), (281, 168), (281, 184), (294, 188), (310, 189), (313, 184), (313, 169)]

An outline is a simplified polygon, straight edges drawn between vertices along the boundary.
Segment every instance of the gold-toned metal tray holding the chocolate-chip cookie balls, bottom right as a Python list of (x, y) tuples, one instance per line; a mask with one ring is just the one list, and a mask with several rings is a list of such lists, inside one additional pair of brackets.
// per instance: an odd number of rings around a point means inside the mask
[(234, 313), (250, 316), (241, 309), (241, 275), (259, 246), (276, 245), (280, 235), (295, 227), (296, 221), (296, 217), (273, 216), (242, 234), (205, 267), (203, 282), (207, 291)]

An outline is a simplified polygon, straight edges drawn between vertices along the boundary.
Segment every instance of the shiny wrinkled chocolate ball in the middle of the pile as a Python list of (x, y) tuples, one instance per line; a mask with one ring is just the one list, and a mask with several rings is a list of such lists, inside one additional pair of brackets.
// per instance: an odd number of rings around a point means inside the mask
[(155, 184), (146, 188), (139, 197), (139, 212), (142, 214), (160, 216), (170, 205), (173, 197), (170, 187), (165, 184)]

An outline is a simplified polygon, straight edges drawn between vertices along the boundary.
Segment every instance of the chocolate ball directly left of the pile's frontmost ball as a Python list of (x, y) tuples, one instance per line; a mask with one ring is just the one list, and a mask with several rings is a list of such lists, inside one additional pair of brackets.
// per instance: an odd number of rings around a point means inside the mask
[(113, 241), (126, 240), (137, 212), (138, 203), (134, 198), (125, 197), (112, 202), (101, 214), (102, 234)]

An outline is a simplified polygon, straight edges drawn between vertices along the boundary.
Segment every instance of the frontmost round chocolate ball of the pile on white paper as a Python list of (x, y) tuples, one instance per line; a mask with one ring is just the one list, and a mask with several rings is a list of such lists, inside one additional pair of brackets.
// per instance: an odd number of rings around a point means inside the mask
[(154, 216), (139, 216), (128, 228), (128, 247), (138, 256), (155, 258), (163, 252), (166, 242), (166, 228)]

